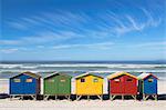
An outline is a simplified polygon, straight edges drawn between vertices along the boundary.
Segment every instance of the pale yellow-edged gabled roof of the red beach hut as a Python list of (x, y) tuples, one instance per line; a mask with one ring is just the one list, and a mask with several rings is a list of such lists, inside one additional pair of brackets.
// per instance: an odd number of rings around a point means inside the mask
[(123, 76), (123, 74), (126, 74), (126, 76), (129, 76), (132, 78), (137, 79), (137, 77), (135, 77), (135, 76), (133, 76), (133, 74), (131, 74), (128, 72), (125, 72), (125, 71), (118, 71), (118, 72), (112, 73), (112, 74), (107, 76), (107, 78), (108, 79), (113, 79), (113, 78), (116, 78), (116, 77), (120, 77), (120, 76)]

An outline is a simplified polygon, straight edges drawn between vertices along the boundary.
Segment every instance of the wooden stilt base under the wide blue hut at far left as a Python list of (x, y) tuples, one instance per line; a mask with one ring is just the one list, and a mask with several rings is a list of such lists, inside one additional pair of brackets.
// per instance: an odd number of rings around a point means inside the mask
[(31, 97), (33, 100), (37, 100), (37, 94), (10, 94), (10, 100), (13, 100), (14, 98), (23, 100), (23, 97)]

